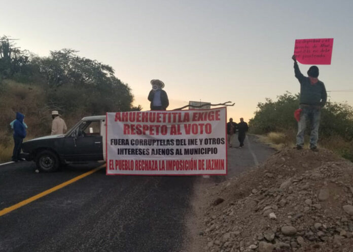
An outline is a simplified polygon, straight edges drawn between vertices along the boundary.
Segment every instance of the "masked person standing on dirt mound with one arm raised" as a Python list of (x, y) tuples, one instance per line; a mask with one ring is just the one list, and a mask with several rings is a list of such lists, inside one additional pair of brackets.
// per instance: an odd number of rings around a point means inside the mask
[(303, 149), (304, 146), (304, 132), (306, 128), (306, 121), (311, 123), (310, 132), (310, 150), (317, 152), (317, 140), (319, 139), (319, 126), (321, 109), (325, 106), (327, 101), (327, 92), (323, 82), (319, 81), (319, 68), (315, 65), (310, 66), (307, 71), (308, 77), (300, 73), (297, 58), (292, 56), (294, 60), (295, 77), (300, 83), (300, 103), (299, 109), (300, 117), (298, 121), (297, 133), (297, 150)]

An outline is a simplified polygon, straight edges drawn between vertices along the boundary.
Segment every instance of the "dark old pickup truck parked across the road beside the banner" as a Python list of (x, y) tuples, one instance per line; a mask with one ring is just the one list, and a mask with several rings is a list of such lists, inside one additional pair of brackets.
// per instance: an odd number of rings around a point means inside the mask
[(21, 157), (44, 172), (72, 162), (105, 161), (105, 116), (84, 117), (66, 134), (34, 138), (21, 149)]

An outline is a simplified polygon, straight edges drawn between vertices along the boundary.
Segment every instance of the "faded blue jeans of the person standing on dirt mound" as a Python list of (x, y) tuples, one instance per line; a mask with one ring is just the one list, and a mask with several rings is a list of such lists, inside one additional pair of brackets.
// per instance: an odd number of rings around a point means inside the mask
[(299, 106), (303, 111), (300, 113), (298, 122), (297, 146), (304, 146), (304, 132), (306, 123), (309, 120), (311, 123), (310, 132), (310, 148), (316, 148), (317, 140), (319, 139), (319, 126), (321, 111), (314, 106)]

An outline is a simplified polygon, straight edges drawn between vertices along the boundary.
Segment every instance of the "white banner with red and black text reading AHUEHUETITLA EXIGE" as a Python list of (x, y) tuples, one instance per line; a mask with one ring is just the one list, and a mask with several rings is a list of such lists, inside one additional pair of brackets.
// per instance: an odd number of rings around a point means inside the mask
[(226, 175), (226, 107), (107, 113), (107, 175)]

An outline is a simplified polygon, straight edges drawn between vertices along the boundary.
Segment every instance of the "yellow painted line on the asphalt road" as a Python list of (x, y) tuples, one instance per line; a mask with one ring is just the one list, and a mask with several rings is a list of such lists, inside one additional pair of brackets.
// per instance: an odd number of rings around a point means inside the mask
[(59, 189), (65, 187), (65, 186), (68, 186), (68, 185), (70, 185), (70, 184), (72, 184), (72, 183), (78, 181), (79, 179), (84, 178), (84, 177), (86, 177), (86, 176), (88, 176), (88, 175), (90, 175), (90, 174), (96, 172), (97, 170), (100, 170), (100, 169), (103, 168), (103, 167), (105, 167), (105, 164), (103, 164), (103, 165), (101, 165), (101, 166), (99, 166), (99, 167), (97, 167), (97, 168), (94, 168), (93, 170), (90, 170), (90, 171), (88, 171), (88, 172), (86, 172), (86, 173), (83, 173), (83, 174), (81, 174), (80, 176), (74, 177), (74, 178), (70, 179), (69, 181), (66, 181), (66, 182), (64, 182), (64, 183), (62, 183), (62, 184), (60, 184), (60, 185), (57, 185), (56, 187), (53, 187), (53, 188), (51, 188), (51, 189), (48, 189), (47, 191), (44, 191), (44, 192), (42, 192), (42, 193), (39, 193), (39, 194), (37, 194), (37, 195), (34, 195), (33, 197), (30, 197), (30, 198), (28, 198), (28, 199), (26, 199), (26, 200), (23, 200), (23, 201), (21, 201), (21, 202), (15, 204), (15, 205), (13, 205), (13, 206), (4, 208), (3, 210), (0, 211), (0, 216), (4, 215), (4, 214), (6, 214), (6, 213), (9, 213), (9, 212), (11, 212), (11, 211), (13, 211), (13, 210), (15, 210), (15, 209), (17, 209), (17, 208), (20, 208), (21, 206), (27, 205), (28, 203), (30, 203), (30, 202), (32, 202), (32, 201), (34, 201), (34, 200), (37, 200), (37, 199), (39, 199), (39, 198), (42, 198), (42, 197), (44, 197), (44, 196), (46, 196), (46, 195), (48, 195), (48, 194), (50, 194), (50, 193), (52, 193), (52, 192), (55, 192), (55, 191), (57, 191), (57, 190), (59, 190)]

